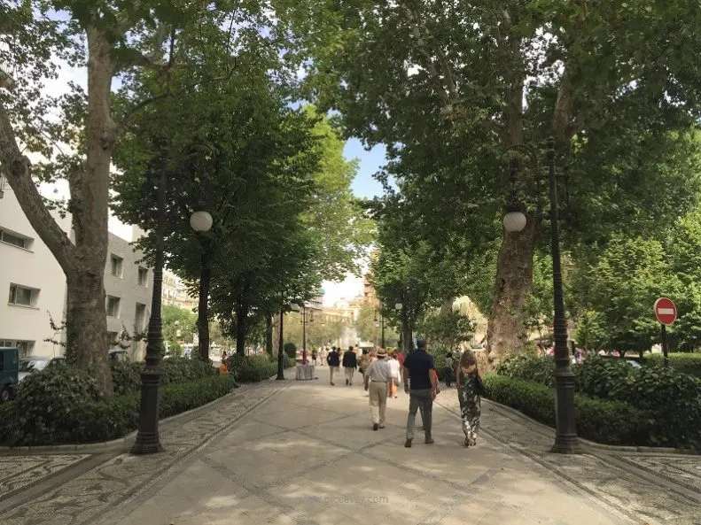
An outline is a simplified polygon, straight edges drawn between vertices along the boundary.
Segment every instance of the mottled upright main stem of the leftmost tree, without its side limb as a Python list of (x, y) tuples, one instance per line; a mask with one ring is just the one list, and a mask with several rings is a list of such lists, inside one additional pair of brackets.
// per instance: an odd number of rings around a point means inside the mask
[(78, 367), (95, 375), (100, 390), (113, 394), (107, 362), (105, 319), (105, 262), (109, 215), (110, 162), (117, 129), (110, 114), (113, 76), (111, 46), (105, 34), (89, 28), (88, 116), (86, 159), (75, 166), (68, 183), (71, 190), (76, 269), (66, 274), (66, 354)]

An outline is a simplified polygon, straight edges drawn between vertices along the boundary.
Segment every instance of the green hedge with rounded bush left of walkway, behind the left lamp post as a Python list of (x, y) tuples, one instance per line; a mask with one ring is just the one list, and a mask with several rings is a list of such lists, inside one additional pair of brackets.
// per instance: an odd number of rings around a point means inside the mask
[[(205, 405), (231, 390), (228, 376), (211, 375), (160, 389), (160, 417)], [(140, 394), (99, 397), (97, 382), (73, 367), (31, 374), (0, 418), (0, 443), (12, 446), (98, 443), (138, 427)]]

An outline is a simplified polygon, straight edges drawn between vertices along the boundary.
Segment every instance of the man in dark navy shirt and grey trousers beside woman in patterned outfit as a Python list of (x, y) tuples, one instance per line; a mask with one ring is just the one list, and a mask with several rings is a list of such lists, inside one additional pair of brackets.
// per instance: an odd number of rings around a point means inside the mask
[(409, 352), (404, 359), (404, 391), (409, 394), (409, 416), (407, 417), (407, 441), (404, 446), (409, 448), (414, 439), (414, 425), (417, 410), (421, 411), (424, 421), (425, 443), (432, 444), (431, 437), (433, 399), (436, 398), (438, 387), (431, 370), (435, 370), (433, 356), (426, 351), (424, 339), (417, 341), (417, 351)]

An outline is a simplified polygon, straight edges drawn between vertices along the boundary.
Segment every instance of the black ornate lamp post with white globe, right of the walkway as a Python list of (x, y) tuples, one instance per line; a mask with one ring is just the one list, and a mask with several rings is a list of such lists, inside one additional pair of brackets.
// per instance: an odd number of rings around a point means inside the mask
[[(526, 153), (534, 165), (537, 165), (537, 156), (527, 146), (518, 144), (512, 146), (507, 152)], [(555, 331), (555, 384), (556, 398), (556, 427), (557, 434), (552, 452), (580, 453), (580, 442), (577, 437), (577, 429), (574, 423), (574, 374), (570, 367), (570, 356), (567, 349), (567, 323), (565, 320), (565, 299), (562, 287), (562, 269), (560, 261), (560, 241), (557, 226), (557, 174), (555, 171), (555, 139), (550, 137), (546, 147), (546, 158), (549, 170), (549, 198), (550, 198), (550, 241), (552, 245), (552, 281), (553, 304), (555, 316), (553, 320)], [(513, 191), (513, 184), (520, 169), (518, 158), (511, 158), (510, 179), (512, 194), (503, 219), (504, 228), (510, 233), (518, 233), (526, 228), (526, 215), (518, 209), (517, 199)]]

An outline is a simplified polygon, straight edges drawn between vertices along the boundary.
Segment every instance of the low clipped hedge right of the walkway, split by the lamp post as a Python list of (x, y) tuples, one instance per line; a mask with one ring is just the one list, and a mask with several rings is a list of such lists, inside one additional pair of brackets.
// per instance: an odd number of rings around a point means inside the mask
[[(508, 405), (555, 427), (555, 390), (498, 374), (484, 377), (487, 398)], [(651, 443), (650, 414), (621, 401), (574, 396), (574, 418), (579, 436), (601, 444)]]

